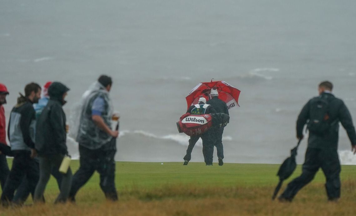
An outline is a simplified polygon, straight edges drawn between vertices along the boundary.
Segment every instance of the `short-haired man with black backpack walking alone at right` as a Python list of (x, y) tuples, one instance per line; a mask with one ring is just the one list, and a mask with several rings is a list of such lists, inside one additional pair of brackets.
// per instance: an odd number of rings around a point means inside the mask
[(297, 120), (297, 138), (303, 139), (303, 128), (308, 122), (308, 148), (302, 174), (292, 180), (279, 196), (280, 201), (292, 201), (294, 196), (306, 184), (313, 180), (315, 173), (321, 168), (326, 177), (326, 193), (330, 201), (340, 198), (340, 161), (337, 155), (339, 139), (339, 122), (345, 128), (356, 153), (356, 133), (352, 118), (345, 103), (336, 98), (331, 91), (333, 84), (324, 81), (319, 84), (319, 96), (308, 101), (300, 112)]

